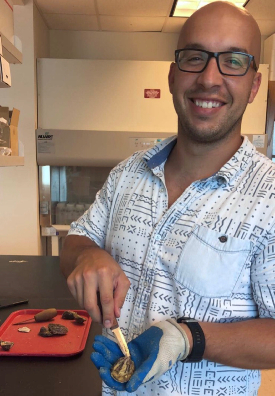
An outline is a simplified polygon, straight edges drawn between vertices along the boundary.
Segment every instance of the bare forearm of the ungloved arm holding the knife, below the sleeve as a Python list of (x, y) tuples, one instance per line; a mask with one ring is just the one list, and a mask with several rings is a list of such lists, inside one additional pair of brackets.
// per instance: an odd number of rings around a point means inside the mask
[(90, 238), (79, 235), (68, 235), (60, 256), (61, 271), (67, 278), (77, 266), (77, 259), (87, 249), (100, 249)]

